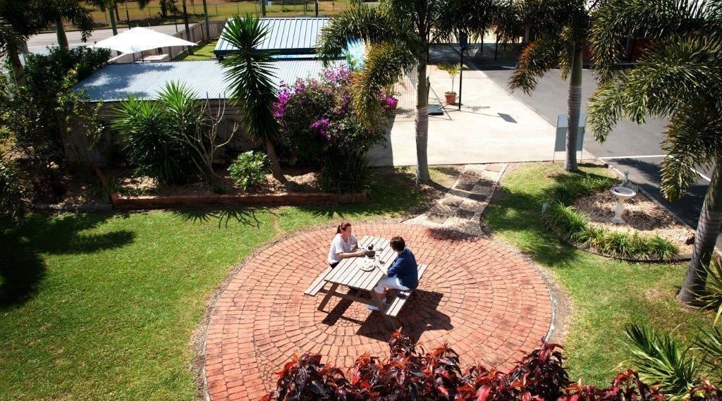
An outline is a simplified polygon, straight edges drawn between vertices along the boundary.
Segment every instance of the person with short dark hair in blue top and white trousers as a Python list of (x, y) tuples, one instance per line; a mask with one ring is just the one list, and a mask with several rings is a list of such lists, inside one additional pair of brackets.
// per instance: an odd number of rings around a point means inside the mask
[[(379, 298), (386, 303), (386, 289), (412, 290), (419, 286), (419, 267), (416, 263), (416, 257), (406, 247), (406, 242), (401, 237), (391, 238), (391, 249), (398, 254), (393, 265), (386, 271), (386, 276), (378, 281), (378, 285), (374, 288)], [(368, 309), (378, 310), (373, 305), (368, 305)]]

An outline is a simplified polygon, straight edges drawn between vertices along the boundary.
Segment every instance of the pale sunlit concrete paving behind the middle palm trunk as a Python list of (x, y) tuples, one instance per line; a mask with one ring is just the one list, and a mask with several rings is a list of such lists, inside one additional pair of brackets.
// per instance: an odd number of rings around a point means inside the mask
[[(429, 66), (430, 103), (442, 102), (451, 79)], [(458, 88), (458, 76), (456, 78)], [(457, 89), (458, 91), (458, 89)], [(429, 164), (483, 164), (551, 160), (555, 128), (477, 69), (464, 71), (463, 105), (446, 106), (444, 115), (429, 116)], [(414, 165), (416, 131), (413, 115), (397, 115), (386, 147), (370, 151), (376, 166)]]

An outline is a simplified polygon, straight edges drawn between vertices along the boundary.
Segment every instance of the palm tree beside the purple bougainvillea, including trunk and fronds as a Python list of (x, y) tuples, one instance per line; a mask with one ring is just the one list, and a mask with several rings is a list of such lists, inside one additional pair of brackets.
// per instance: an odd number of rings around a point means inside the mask
[(367, 123), (373, 123), (378, 113), (378, 92), (416, 66), (417, 182), (430, 180), (426, 81), (429, 43), (451, 38), (461, 30), (482, 34), (501, 8), (497, 0), (381, 0), (374, 8), (354, 4), (323, 28), (318, 53), (326, 61), (338, 58), (349, 40), (362, 40), (369, 46), (355, 82), (353, 100), (355, 110)]

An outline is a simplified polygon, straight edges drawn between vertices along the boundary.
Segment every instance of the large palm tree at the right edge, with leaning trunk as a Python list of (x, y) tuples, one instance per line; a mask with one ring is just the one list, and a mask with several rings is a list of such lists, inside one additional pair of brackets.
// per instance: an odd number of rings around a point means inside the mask
[[(608, 0), (596, 13), (591, 35), (601, 84), (588, 108), (588, 123), (604, 141), (621, 118), (643, 123), (669, 118), (662, 148), (664, 196), (676, 201), (695, 182), (692, 168), (714, 164), (697, 223), (695, 250), (679, 299), (704, 293), (722, 226), (722, 3), (720, 1)], [(617, 69), (627, 35), (653, 46), (634, 69)]]

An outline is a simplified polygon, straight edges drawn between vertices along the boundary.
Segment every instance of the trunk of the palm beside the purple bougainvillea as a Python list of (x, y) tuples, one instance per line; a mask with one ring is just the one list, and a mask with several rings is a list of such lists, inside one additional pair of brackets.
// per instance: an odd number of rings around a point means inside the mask
[(422, 40), (418, 49), (417, 66), (417, 104), (416, 104), (416, 182), (429, 182), (429, 162), (427, 143), (429, 141), (429, 92), (426, 85), (426, 41)]

